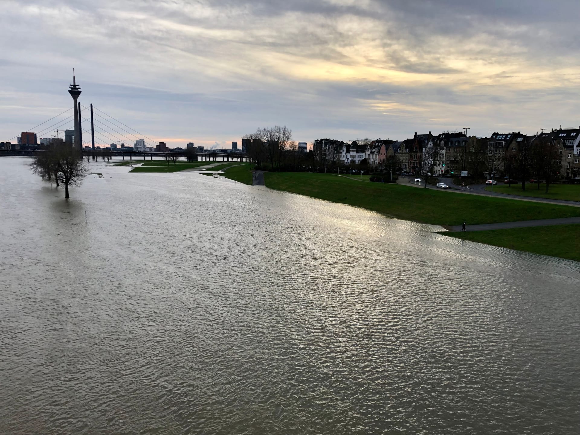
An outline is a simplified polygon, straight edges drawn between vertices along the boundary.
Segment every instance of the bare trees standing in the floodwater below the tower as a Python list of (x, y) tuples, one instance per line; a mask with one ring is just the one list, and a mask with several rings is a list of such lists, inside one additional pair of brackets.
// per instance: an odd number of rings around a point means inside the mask
[(32, 158), (30, 169), (43, 180), (55, 180), (56, 187), (64, 187), (64, 197), (69, 186), (78, 186), (88, 170), (83, 164), (82, 155), (70, 144), (53, 144), (39, 151)]

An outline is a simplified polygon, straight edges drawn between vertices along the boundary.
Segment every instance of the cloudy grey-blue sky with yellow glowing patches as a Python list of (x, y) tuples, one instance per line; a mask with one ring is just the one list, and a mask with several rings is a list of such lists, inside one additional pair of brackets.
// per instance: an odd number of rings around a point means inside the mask
[(171, 147), (580, 125), (577, 0), (0, 3), (0, 140), (70, 107), (73, 67), (82, 104)]

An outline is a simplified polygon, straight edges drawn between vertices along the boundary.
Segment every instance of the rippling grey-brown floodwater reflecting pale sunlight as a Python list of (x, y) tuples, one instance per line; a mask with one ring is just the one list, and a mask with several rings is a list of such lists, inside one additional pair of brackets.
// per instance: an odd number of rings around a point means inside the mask
[(66, 202), (26, 163), (2, 434), (580, 432), (580, 263), (193, 172), (91, 164)]

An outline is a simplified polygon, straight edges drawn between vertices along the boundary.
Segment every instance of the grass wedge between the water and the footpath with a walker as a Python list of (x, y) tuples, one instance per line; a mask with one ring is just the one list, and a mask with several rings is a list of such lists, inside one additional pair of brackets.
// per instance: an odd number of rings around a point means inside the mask
[(580, 261), (580, 224), (441, 234), (502, 248)]

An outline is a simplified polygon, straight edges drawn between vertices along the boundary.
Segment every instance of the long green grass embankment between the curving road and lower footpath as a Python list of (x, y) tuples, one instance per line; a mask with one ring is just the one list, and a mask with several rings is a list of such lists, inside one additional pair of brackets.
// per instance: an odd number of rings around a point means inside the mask
[[(236, 166), (226, 172), (242, 168)], [(246, 171), (247, 172), (247, 171)], [(252, 177), (249, 172), (248, 183)], [(390, 183), (361, 183), (332, 174), (307, 172), (266, 172), (266, 186), (341, 202), (399, 219), (438, 225), (513, 222), (580, 216), (580, 208), (541, 202), (416, 189)]]

